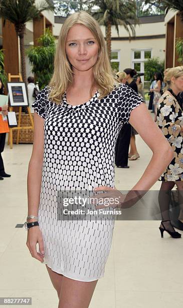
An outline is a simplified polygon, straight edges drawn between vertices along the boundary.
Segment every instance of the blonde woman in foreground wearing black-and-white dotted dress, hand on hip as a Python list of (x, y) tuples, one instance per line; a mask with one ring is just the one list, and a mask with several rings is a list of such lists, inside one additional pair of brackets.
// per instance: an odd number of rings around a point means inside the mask
[(89, 306), (104, 275), (114, 220), (105, 215), (92, 220), (92, 214), (87, 220), (74, 214), (59, 220), (58, 193), (96, 188), (114, 196), (114, 146), (127, 122), (153, 152), (132, 189), (148, 190), (172, 159), (169, 143), (142, 103), (133, 90), (116, 85), (96, 20), (82, 11), (68, 17), (60, 31), (52, 80), (33, 106), (35, 136), (28, 172), (32, 222), (27, 247), (33, 258), (46, 264), (59, 308)]

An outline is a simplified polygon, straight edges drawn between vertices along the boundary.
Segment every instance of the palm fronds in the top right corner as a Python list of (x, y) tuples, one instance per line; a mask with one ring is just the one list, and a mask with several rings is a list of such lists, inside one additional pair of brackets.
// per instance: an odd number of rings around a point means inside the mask
[(145, 0), (145, 4), (150, 4), (154, 6), (161, 5), (165, 8), (165, 14), (170, 10), (179, 11), (180, 19), (183, 22), (183, 0)]

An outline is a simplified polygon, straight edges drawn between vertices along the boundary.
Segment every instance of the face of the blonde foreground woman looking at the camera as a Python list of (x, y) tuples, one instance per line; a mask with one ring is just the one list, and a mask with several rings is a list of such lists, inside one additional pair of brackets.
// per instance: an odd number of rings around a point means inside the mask
[(99, 47), (93, 33), (84, 25), (76, 24), (68, 32), (66, 54), (73, 70), (86, 71), (98, 58)]

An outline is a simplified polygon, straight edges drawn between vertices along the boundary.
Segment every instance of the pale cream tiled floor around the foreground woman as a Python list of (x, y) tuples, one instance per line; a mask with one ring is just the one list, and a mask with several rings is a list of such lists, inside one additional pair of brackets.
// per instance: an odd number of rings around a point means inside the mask
[[(136, 137), (140, 159), (130, 169), (115, 170), (115, 186), (130, 189), (142, 175), (151, 151)], [(0, 182), (0, 297), (32, 297), (33, 308), (56, 308), (45, 265), (30, 257), (27, 233), (15, 228), (27, 215), (27, 170), (32, 145), (7, 145), (3, 153), (12, 177)], [(157, 182), (152, 189), (158, 189)], [(181, 308), (183, 239), (160, 238), (158, 220), (116, 221), (104, 278), (97, 283), (90, 308)], [(183, 236), (183, 234), (182, 234)]]

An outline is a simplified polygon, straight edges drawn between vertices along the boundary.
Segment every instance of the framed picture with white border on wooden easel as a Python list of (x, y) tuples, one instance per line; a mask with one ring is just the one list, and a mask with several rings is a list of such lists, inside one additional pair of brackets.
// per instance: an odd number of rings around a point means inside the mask
[(7, 83), (11, 107), (29, 106), (26, 85), (23, 82)]

